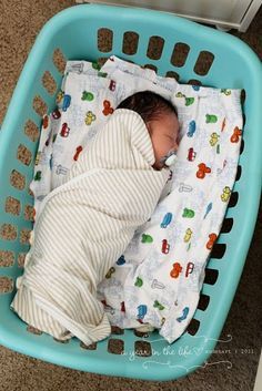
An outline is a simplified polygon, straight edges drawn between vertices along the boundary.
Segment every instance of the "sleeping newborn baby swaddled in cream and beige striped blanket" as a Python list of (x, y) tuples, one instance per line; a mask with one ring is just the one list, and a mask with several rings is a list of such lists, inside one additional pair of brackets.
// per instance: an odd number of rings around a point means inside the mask
[(97, 286), (152, 215), (178, 150), (175, 109), (140, 92), (125, 99), (42, 202), (11, 308), (59, 340), (87, 346), (111, 332)]

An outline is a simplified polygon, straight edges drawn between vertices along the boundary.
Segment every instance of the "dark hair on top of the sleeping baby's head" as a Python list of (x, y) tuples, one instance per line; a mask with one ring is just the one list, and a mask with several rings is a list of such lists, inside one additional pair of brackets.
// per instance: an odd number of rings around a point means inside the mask
[(171, 102), (151, 91), (137, 92), (123, 100), (117, 109), (133, 110), (145, 123), (158, 120), (163, 113), (178, 114)]

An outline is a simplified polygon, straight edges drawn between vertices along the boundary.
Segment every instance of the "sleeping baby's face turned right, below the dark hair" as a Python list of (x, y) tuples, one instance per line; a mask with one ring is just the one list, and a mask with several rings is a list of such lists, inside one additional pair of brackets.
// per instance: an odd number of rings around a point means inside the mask
[(151, 135), (154, 151), (155, 163), (153, 168), (161, 169), (164, 163), (161, 160), (168, 155), (170, 151), (179, 148), (179, 121), (174, 113), (164, 113), (158, 120), (147, 123), (147, 127)]

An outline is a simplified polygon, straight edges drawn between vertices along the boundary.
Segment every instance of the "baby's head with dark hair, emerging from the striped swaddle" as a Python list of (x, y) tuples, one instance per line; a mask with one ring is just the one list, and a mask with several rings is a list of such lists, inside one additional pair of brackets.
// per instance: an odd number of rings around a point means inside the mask
[(174, 106), (153, 92), (142, 91), (127, 97), (118, 109), (129, 109), (140, 114), (153, 145), (153, 168), (163, 168), (164, 156), (178, 150), (179, 121)]

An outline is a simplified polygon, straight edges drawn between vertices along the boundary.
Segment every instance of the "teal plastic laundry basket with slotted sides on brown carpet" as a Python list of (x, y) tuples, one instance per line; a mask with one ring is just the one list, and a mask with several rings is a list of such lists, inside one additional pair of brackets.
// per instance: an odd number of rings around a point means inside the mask
[[(119, 328), (89, 347), (77, 338), (61, 343), (31, 330), (10, 310), (32, 229), (29, 184), (41, 114), (56, 107), (64, 60), (95, 61), (111, 54), (154, 68), (160, 75), (175, 75), (181, 83), (244, 91), (235, 186), (194, 318), (172, 344), (157, 331), (144, 336)], [(52, 18), (29, 54), (0, 132), (0, 344), (68, 368), (144, 380), (178, 379), (204, 367), (220, 337), (253, 234), (261, 192), (261, 63), (239, 39), (135, 8), (74, 6)]]

